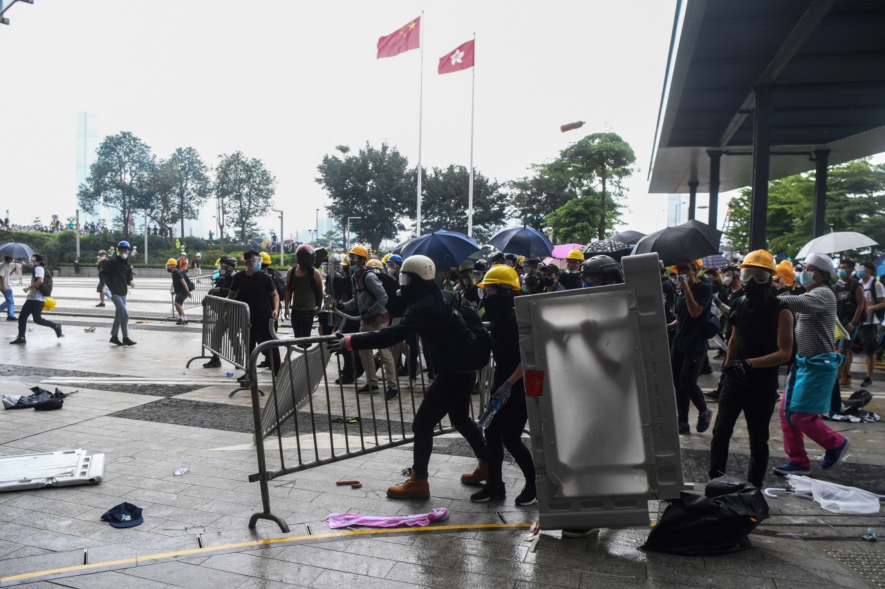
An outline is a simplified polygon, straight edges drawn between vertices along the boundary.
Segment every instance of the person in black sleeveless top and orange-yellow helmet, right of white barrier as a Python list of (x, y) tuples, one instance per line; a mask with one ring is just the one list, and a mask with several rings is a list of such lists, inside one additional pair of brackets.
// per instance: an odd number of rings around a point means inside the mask
[(743, 258), (739, 276), (744, 296), (729, 318), (733, 331), (710, 442), (711, 479), (726, 474), (729, 441), (742, 412), (750, 436), (747, 480), (761, 487), (768, 470), (768, 430), (778, 400), (778, 367), (793, 356), (793, 314), (775, 294), (774, 272), (774, 256), (764, 249)]

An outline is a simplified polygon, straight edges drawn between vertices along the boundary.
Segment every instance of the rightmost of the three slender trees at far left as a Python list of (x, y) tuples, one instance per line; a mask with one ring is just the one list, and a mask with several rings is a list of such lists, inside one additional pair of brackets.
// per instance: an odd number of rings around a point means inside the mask
[(239, 228), (240, 241), (245, 242), (249, 229), (273, 206), (275, 184), (276, 178), (260, 159), (249, 159), (240, 151), (220, 155), (214, 188), (221, 233), (229, 220)]

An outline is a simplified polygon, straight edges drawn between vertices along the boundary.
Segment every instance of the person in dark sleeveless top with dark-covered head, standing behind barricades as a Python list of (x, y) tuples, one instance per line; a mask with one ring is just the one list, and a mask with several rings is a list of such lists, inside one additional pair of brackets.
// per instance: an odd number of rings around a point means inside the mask
[(317, 254), (312, 246), (306, 243), (298, 246), (295, 259), (295, 266), (289, 268), (286, 274), (284, 316), (287, 319), (291, 317), (295, 337), (306, 338), (311, 335), (313, 317), (323, 306), (323, 277), (313, 267)]

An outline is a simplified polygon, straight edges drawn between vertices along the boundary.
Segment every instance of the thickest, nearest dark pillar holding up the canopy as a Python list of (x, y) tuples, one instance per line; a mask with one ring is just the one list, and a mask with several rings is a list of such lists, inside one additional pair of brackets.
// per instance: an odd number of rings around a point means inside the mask
[(772, 87), (764, 84), (754, 88), (756, 108), (753, 111), (753, 184), (750, 196), (750, 249), (766, 248), (768, 222), (768, 173), (771, 158), (769, 115)]

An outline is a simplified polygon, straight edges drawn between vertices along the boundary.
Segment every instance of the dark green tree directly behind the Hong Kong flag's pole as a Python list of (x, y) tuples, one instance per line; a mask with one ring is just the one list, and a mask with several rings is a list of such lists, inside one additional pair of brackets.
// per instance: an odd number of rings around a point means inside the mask
[[(467, 233), (467, 191), (470, 171), (463, 165), (422, 170), (421, 231), (440, 229)], [(473, 171), (473, 237), (485, 243), (504, 223), (508, 199), (501, 185)]]

